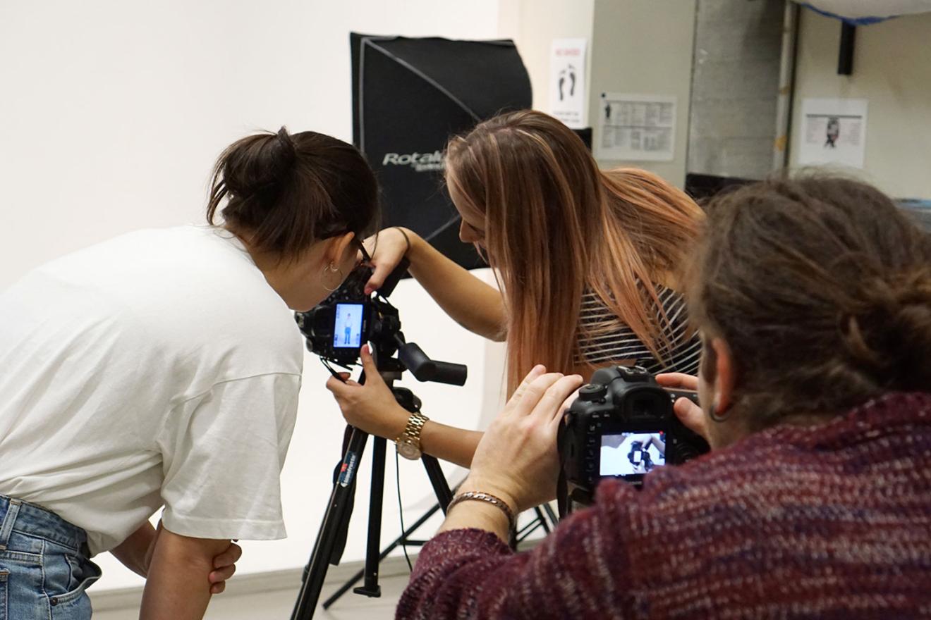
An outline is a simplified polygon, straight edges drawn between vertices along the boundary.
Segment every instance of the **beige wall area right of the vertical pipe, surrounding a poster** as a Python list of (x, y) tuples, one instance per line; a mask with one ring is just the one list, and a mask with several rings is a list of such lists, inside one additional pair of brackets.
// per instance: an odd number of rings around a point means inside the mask
[(790, 162), (802, 99), (870, 101), (862, 176), (897, 198), (931, 198), (931, 13), (857, 28), (854, 71), (837, 74), (841, 23), (803, 9)]

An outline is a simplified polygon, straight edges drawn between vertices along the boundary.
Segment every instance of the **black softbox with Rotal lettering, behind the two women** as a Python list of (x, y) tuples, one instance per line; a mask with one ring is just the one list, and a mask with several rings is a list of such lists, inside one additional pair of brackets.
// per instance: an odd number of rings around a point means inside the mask
[(459, 217), (442, 187), (454, 134), (531, 107), (530, 77), (512, 41), (351, 33), (353, 139), (382, 186), (383, 225), (405, 226), (472, 269)]

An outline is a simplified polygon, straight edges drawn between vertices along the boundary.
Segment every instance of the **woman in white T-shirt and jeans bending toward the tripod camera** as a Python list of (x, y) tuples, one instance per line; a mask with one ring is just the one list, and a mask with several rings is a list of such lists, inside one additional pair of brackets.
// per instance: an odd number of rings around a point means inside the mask
[(223, 152), (209, 226), (131, 232), (0, 294), (10, 617), (89, 618), (90, 558), (110, 551), (147, 578), (142, 618), (201, 618), (232, 539), (285, 536), (304, 359), (290, 310), (342, 284), (377, 209), (357, 149), (282, 127)]

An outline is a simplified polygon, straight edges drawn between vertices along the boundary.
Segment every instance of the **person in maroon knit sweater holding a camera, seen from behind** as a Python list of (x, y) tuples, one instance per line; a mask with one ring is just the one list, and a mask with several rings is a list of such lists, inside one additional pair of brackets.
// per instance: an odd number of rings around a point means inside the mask
[[(862, 183), (767, 181), (708, 205), (689, 283), (699, 377), (660, 378), (712, 452), (603, 481), (529, 552), (456, 503), (398, 619), (931, 617), (929, 236)], [(535, 368), (460, 494), (550, 499), (580, 383)]]

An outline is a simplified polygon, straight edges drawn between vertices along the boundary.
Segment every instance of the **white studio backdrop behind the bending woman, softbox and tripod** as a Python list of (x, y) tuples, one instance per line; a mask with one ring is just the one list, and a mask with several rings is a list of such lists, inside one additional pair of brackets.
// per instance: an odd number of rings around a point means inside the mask
[[(495, 38), (498, 18), (497, 0), (3, 3), (0, 287), (120, 232), (200, 220), (214, 158), (254, 129), (351, 139), (350, 30)], [(470, 366), (465, 389), (416, 386), (425, 412), (477, 426), (485, 392), (500, 385), (499, 374), (485, 388), (484, 360), (500, 350), (467, 335), (416, 284), (401, 284), (394, 299), (409, 338)], [(308, 356), (282, 477), (290, 537), (245, 543), (241, 572), (301, 566), (310, 553), (343, 434), (322, 388), (327, 376)], [(430, 490), (419, 464), (401, 465), (413, 521)], [(398, 533), (392, 478), (389, 463), (385, 540)], [(368, 497), (358, 495), (346, 560), (364, 555)], [(115, 561), (101, 563), (106, 575), (95, 589), (141, 583)]]

